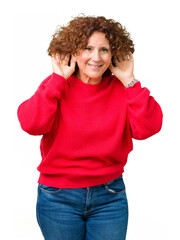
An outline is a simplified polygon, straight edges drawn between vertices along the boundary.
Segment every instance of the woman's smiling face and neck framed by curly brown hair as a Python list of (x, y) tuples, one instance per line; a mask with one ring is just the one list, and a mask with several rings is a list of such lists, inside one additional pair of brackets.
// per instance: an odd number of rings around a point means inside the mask
[(94, 32), (88, 40), (87, 47), (76, 55), (77, 77), (85, 83), (99, 83), (111, 63), (111, 58), (111, 49), (105, 34)]

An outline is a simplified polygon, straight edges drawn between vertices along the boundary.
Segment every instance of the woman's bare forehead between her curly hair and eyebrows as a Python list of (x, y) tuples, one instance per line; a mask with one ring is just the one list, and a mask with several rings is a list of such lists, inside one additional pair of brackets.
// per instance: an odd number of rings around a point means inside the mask
[(93, 46), (109, 46), (109, 41), (105, 37), (105, 33), (94, 32), (91, 37), (88, 39), (88, 45)]

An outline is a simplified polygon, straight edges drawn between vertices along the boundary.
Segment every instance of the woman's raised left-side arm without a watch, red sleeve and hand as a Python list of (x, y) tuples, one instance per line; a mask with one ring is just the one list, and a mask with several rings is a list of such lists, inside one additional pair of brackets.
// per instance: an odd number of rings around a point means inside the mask
[(51, 130), (66, 79), (75, 69), (75, 59), (72, 57), (69, 66), (69, 57), (53, 54), (51, 59), (53, 74), (41, 83), (30, 99), (19, 106), (18, 118), (21, 127), (29, 134), (43, 135)]

